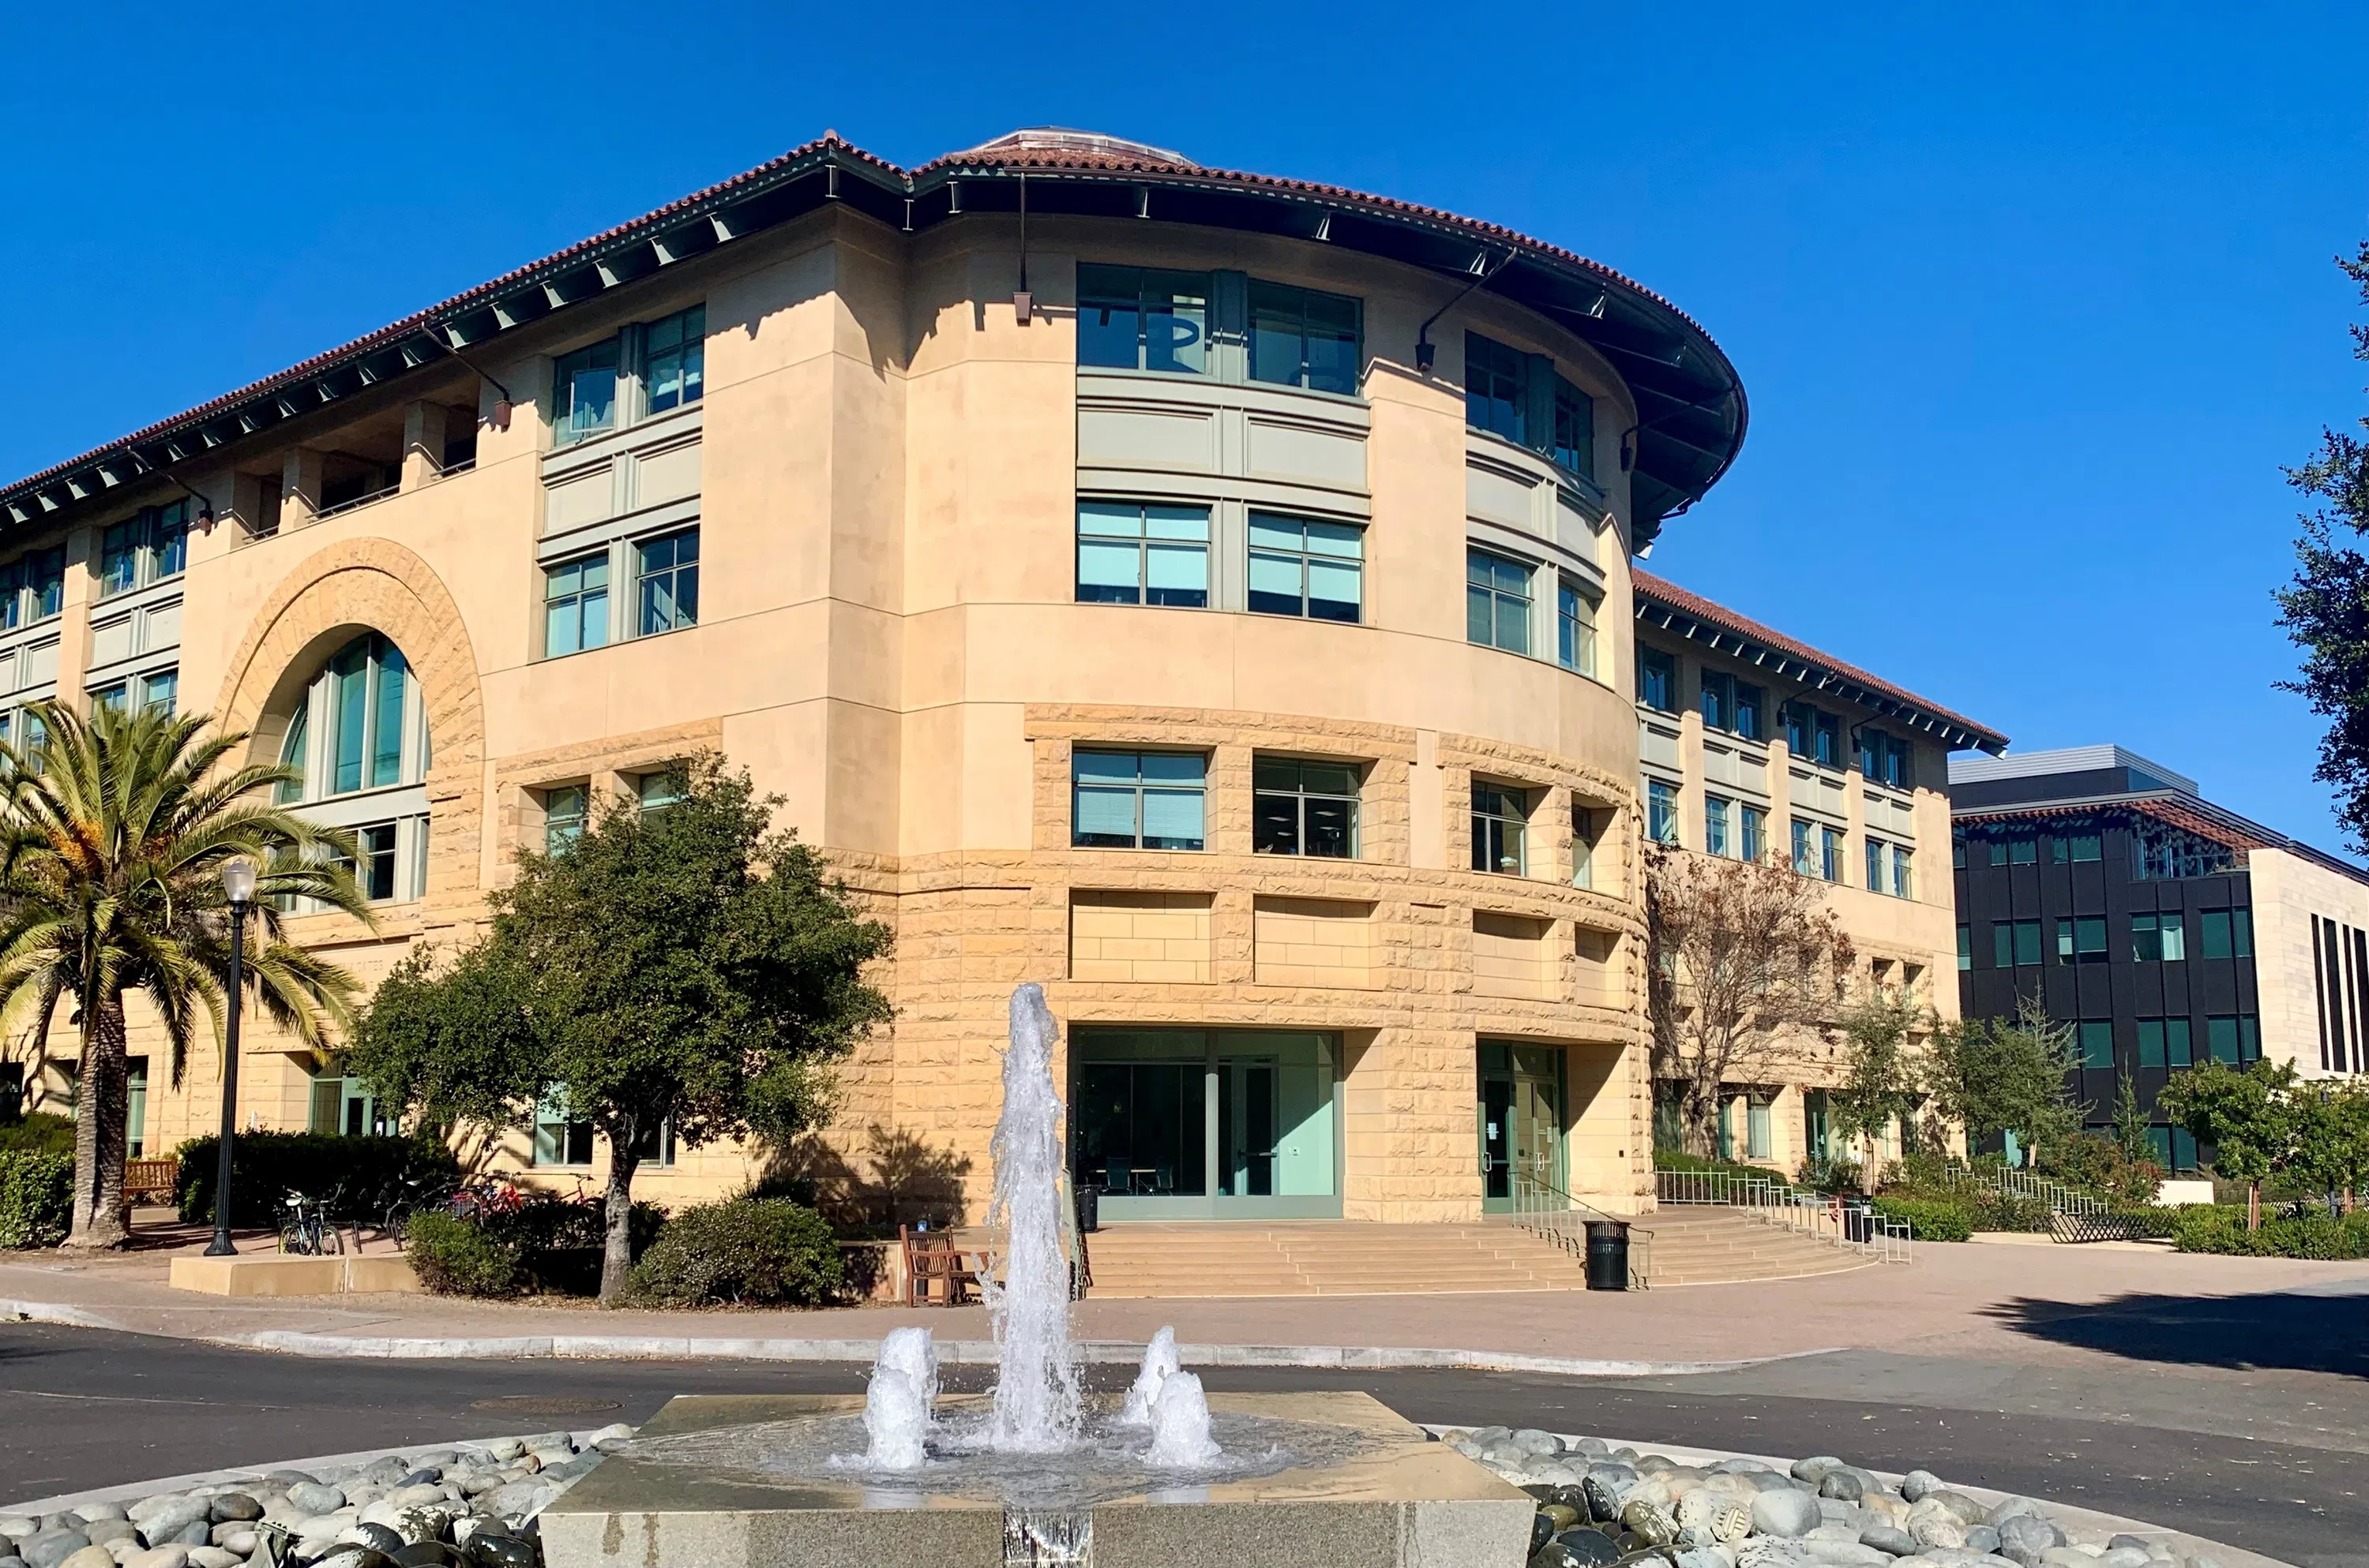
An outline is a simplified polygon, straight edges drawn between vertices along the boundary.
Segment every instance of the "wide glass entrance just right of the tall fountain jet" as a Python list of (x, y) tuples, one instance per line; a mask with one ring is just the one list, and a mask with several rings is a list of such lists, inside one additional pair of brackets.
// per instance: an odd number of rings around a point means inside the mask
[(1071, 1180), (1104, 1220), (1341, 1215), (1331, 1035), (1080, 1028)]

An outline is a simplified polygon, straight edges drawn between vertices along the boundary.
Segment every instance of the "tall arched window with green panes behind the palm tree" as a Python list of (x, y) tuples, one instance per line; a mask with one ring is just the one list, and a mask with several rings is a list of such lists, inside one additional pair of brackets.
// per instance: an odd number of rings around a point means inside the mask
[(377, 632), (355, 637), (306, 682), (280, 763), (280, 801), (355, 838), (355, 881), (381, 902), (426, 891), (429, 727), (419, 677)]

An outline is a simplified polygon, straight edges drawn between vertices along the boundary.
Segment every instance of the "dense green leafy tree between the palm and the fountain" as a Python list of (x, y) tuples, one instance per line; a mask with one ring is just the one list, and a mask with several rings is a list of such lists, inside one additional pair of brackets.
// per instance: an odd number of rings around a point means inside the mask
[(348, 1056), (429, 1123), (590, 1120), (609, 1144), (604, 1303), (628, 1284), (633, 1177), (661, 1127), (694, 1149), (796, 1137), (829, 1106), (829, 1063), (888, 1018), (862, 978), (888, 928), (770, 829), (779, 798), (713, 753), (668, 796), (606, 801), (566, 850), (521, 853), (493, 933), (389, 976)]

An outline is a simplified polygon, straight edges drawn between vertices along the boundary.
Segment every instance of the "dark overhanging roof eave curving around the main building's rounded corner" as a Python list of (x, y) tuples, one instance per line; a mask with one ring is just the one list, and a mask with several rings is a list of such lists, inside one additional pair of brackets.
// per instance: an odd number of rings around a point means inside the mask
[(24, 526), (92, 493), (171, 474), (270, 424), (469, 353), (554, 310), (827, 204), (919, 232), (962, 213), (1016, 211), (1021, 187), (1031, 211), (1156, 216), (1327, 242), (1537, 310), (1604, 353), (1637, 398), (1637, 429), (1628, 431), (1635, 441), (1632, 547), (1701, 500), (1744, 445), (1744, 381), (1701, 324), (1644, 284), (1502, 225), (1336, 185), (1139, 156), (981, 149), (905, 171), (824, 133), (341, 348), (9, 483), (0, 488), (0, 516)]

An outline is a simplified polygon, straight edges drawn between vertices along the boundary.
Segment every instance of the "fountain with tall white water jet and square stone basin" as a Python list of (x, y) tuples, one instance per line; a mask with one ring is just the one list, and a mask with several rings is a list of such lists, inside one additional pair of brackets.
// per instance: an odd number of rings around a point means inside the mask
[(1360, 1393), (1215, 1395), (1161, 1329), (1087, 1400), (1045, 992), (1012, 995), (993, 1395), (893, 1329), (865, 1395), (682, 1395), (543, 1516), (550, 1568), (1519, 1568), (1533, 1502)]

